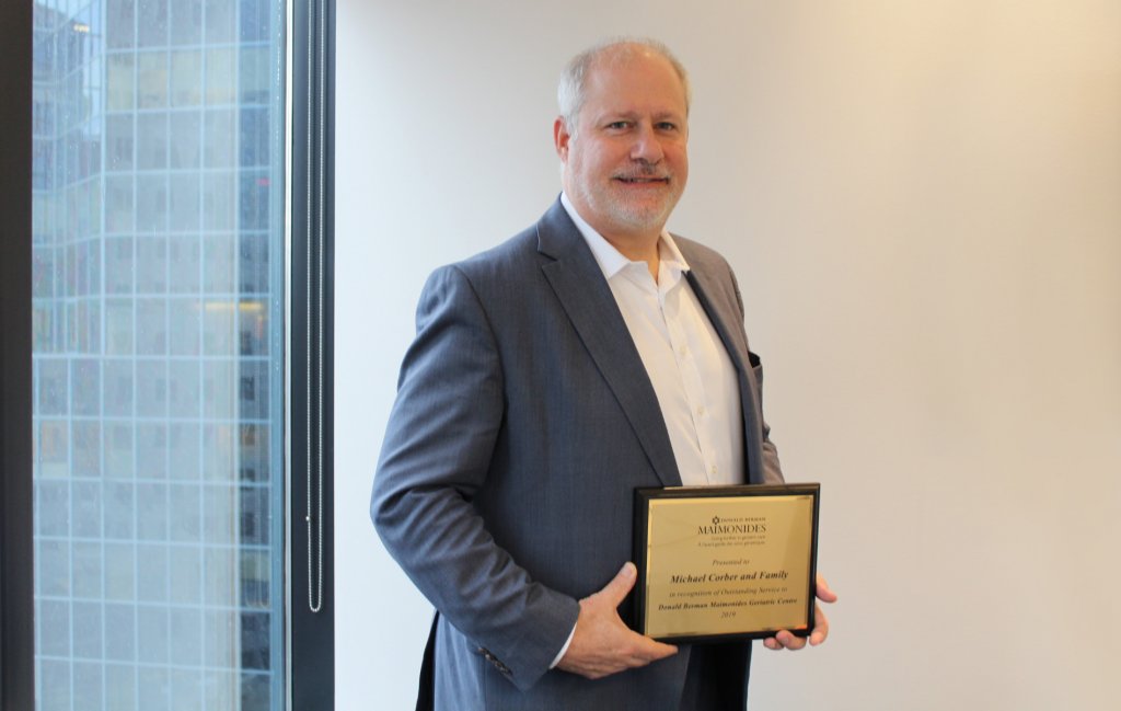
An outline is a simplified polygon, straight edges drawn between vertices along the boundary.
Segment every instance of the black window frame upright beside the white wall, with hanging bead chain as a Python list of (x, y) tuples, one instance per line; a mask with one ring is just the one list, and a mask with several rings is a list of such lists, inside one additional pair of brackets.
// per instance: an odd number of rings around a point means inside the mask
[(293, 709), (334, 708), (334, 2), (293, 17), (289, 674)]

